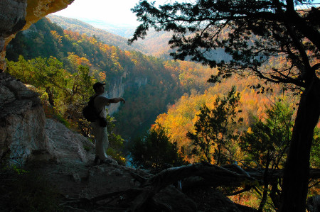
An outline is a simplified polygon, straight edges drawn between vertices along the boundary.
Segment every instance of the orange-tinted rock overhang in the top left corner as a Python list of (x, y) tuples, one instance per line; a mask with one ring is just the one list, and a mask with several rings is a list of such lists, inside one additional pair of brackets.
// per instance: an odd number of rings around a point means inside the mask
[(6, 68), (6, 45), (19, 30), (26, 30), (39, 19), (65, 9), (74, 0), (1, 0), (0, 69)]

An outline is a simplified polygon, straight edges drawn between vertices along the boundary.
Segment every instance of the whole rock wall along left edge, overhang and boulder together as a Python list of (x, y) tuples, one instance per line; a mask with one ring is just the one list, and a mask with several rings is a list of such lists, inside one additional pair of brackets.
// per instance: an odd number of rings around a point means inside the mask
[[(0, 160), (22, 165), (32, 156), (51, 157), (40, 99), (18, 80), (4, 73), (6, 45), (19, 30), (48, 13), (65, 9), (73, 0), (0, 1)], [(34, 158), (34, 157), (33, 157)]]

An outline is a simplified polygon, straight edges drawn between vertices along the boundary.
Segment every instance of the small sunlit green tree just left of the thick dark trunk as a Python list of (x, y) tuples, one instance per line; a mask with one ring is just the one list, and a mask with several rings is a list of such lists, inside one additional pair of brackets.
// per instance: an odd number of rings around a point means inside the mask
[[(264, 121), (257, 120), (240, 137), (240, 147), (245, 152), (245, 164), (255, 169), (264, 169), (260, 208), (272, 205), (279, 207), (281, 183), (269, 182), (274, 169), (282, 169), (287, 158), (287, 147), (292, 137), (294, 110), (287, 102), (277, 101), (266, 109)], [(270, 184), (272, 184), (270, 186)], [(271, 196), (271, 199), (268, 198)], [(278, 196), (278, 197), (276, 197)], [(269, 200), (269, 203), (268, 203)], [(267, 208), (269, 208), (268, 206)]]

